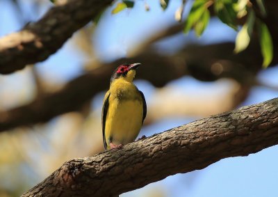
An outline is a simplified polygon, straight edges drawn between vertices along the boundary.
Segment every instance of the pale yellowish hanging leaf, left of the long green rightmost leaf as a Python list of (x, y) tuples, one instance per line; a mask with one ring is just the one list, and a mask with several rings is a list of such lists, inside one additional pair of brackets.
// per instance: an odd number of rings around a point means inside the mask
[(240, 29), (238, 35), (236, 36), (236, 47), (234, 49), (234, 52), (242, 52), (248, 47), (253, 32), (254, 22), (255, 13), (253, 10), (250, 10), (246, 23), (243, 25), (243, 28)]

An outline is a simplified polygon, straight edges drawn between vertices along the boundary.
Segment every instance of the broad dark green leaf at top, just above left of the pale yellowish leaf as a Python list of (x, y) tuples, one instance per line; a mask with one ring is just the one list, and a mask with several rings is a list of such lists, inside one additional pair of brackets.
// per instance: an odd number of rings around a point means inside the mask
[(238, 30), (236, 24), (236, 0), (215, 0), (214, 9), (219, 19), (231, 28)]

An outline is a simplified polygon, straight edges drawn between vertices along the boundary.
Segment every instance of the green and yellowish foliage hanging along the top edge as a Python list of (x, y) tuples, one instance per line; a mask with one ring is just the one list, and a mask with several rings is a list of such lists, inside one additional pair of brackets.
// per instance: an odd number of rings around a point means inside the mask
[[(54, 0), (51, 0), (54, 2)], [(177, 10), (175, 18), (181, 22), (183, 9), (188, 6), (187, 1), (183, 0), (181, 7)], [(134, 1), (122, 0), (115, 4), (112, 14), (120, 13), (126, 8), (133, 8)], [(161, 8), (166, 10), (170, 0), (159, 0)], [(259, 12), (262, 17), (267, 15), (263, 0), (256, 0)], [(212, 7), (213, 6), (213, 7)], [(149, 10), (146, 6), (145, 10)], [(101, 12), (102, 13), (102, 12)], [(259, 43), (261, 45), (261, 54), (263, 56), (263, 67), (270, 65), (273, 58), (273, 44), (268, 26), (256, 16), (254, 6), (250, 0), (195, 0), (190, 11), (184, 21), (183, 33), (190, 30), (195, 31), (197, 37), (202, 36), (211, 19), (211, 13), (215, 14), (224, 24), (227, 24), (235, 31), (236, 36), (235, 53), (242, 52), (250, 44), (250, 40), (254, 32), (258, 34)], [(101, 14), (99, 15), (99, 17)], [(95, 20), (98, 21), (99, 17)], [(239, 26), (240, 19), (245, 19), (243, 26)]]

